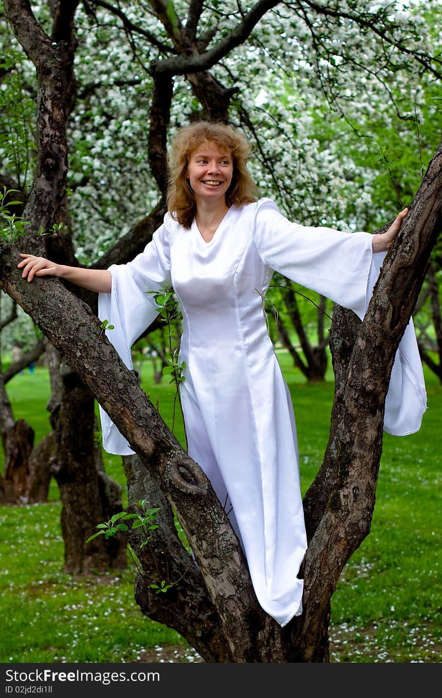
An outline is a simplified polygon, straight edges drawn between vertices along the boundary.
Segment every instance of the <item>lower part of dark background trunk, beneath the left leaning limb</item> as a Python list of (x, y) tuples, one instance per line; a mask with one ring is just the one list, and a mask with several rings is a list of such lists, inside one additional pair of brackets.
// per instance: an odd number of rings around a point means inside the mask
[(64, 571), (80, 575), (123, 569), (126, 543), (121, 537), (106, 541), (100, 536), (85, 544), (98, 523), (122, 509), (121, 487), (105, 475), (96, 443), (94, 398), (53, 346), (47, 347), (47, 357), (52, 385), (47, 408), (54, 431), (46, 448), (53, 449), (47, 458), (62, 503)]

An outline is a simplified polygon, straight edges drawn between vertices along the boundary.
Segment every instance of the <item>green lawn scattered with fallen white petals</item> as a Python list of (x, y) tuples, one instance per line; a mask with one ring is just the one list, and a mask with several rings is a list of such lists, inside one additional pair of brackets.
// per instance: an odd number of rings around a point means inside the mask
[[(303, 492), (321, 464), (330, 428), (332, 375), (308, 385), (287, 354), (279, 354), (295, 406)], [(332, 597), (333, 662), (441, 662), (442, 388), (426, 373), (428, 406), (422, 428), (385, 434), (371, 533), (344, 568)], [(159, 400), (168, 424), (172, 387), (154, 385), (149, 365), (142, 385)], [(36, 441), (49, 431), (45, 369), (8, 383), (15, 418), (27, 419)], [(177, 437), (183, 443), (182, 422)], [(104, 454), (108, 474), (125, 486), (121, 459)], [(135, 571), (75, 580), (61, 572), (63, 542), (57, 487), (50, 502), (0, 507), (0, 662), (131, 662), (154, 646), (186, 643), (142, 616), (133, 600)]]

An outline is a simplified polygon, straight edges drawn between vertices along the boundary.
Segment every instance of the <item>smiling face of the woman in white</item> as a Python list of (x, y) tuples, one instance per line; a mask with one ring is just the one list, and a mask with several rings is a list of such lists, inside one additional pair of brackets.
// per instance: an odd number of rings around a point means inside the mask
[(226, 200), (233, 176), (233, 158), (229, 149), (213, 142), (205, 143), (189, 155), (186, 179), (198, 201)]

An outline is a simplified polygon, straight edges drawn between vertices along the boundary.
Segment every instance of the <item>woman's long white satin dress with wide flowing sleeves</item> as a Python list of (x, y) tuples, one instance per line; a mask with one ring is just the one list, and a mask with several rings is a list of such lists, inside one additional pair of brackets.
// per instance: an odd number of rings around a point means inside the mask
[[(263, 296), (274, 270), (353, 309), (360, 318), (383, 254), (372, 236), (290, 223), (270, 199), (231, 207), (210, 242), (195, 222), (169, 214), (133, 262), (112, 265), (112, 292), (98, 314), (126, 366), (131, 345), (156, 316), (148, 290), (172, 283), (183, 315), (180, 361), (189, 455), (230, 511), (256, 596), (280, 625), (302, 613), (297, 573), (307, 539), (300, 492), (295, 418), (267, 333)], [(377, 258), (377, 260), (376, 260)], [(417, 431), (426, 408), (412, 322), (395, 359), (384, 429)], [(101, 410), (106, 451), (131, 454)], [(231, 504), (230, 504), (231, 503)]]

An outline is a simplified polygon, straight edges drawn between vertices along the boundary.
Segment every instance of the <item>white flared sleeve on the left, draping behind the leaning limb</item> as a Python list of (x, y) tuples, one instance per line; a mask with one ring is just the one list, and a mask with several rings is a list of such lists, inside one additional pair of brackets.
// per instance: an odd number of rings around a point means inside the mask
[[(154, 232), (152, 242), (126, 265), (109, 267), (112, 275), (110, 293), (98, 295), (98, 317), (108, 320), (114, 329), (106, 336), (128, 369), (132, 369), (131, 346), (154, 321), (158, 306), (152, 293), (170, 286), (170, 253), (166, 218)], [(100, 406), (103, 447), (108, 453), (133, 454), (126, 439)]]

